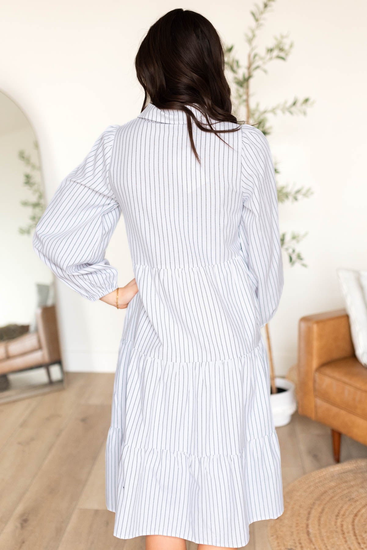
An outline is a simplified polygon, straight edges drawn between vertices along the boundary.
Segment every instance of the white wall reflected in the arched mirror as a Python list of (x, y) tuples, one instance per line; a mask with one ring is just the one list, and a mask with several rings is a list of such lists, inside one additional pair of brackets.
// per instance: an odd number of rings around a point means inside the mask
[[(0, 97), (2, 121), (12, 110), (9, 101)], [(0, 326), (34, 322), (36, 283), (49, 284), (52, 281), (52, 274), (35, 256), (31, 235), (19, 233), (19, 227), (29, 223), (30, 214), (29, 208), (22, 206), (20, 201), (31, 200), (32, 196), (23, 184), (26, 168), (19, 160), (18, 152), (24, 150), (37, 164), (38, 155), (34, 149), (34, 131), (24, 116), (23, 128), (18, 126), (15, 125), (16, 129), (12, 131), (9, 124), (6, 132), (0, 132)]]

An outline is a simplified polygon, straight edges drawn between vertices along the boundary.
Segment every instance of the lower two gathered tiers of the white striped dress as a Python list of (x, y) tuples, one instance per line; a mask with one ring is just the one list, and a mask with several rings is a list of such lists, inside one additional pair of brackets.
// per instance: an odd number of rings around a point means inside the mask
[(242, 547), (283, 511), (263, 338), (224, 361), (170, 362), (121, 340), (106, 444), (114, 536)]

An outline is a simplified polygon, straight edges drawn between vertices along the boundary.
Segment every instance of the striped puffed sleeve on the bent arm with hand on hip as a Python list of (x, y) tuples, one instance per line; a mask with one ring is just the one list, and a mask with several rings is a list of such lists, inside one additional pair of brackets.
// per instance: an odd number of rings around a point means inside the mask
[(109, 183), (118, 128), (109, 126), (84, 161), (63, 179), (33, 238), (41, 260), (89, 300), (102, 298), (118, 287), (117, 271), (104, 258), (121, 213)]

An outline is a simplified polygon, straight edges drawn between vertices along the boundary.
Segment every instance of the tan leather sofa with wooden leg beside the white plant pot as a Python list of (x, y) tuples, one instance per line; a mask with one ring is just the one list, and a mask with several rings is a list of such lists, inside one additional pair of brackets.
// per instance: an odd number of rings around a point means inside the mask
[(354, 354), (345, 310), (299, 320), (298, 411), (330, 426), (340, 459), (341, 434), (367, 445), (367, 368)]

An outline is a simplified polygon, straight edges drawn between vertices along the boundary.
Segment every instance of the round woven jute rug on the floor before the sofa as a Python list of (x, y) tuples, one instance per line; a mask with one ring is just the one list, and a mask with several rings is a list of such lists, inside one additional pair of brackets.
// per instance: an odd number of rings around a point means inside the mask
[(286, 487), (270, 522), (273, 550), (367, 550), (367, 459), (307, 474)]

